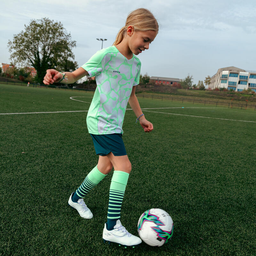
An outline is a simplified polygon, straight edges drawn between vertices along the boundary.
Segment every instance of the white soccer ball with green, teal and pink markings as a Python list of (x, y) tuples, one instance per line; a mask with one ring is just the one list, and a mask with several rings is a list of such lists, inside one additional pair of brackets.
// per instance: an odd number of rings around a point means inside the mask
[(164, 210), (153, 208), (141, 214), (137, 230), (146, 244), (162, 246), (172, 237), (173, 221)]

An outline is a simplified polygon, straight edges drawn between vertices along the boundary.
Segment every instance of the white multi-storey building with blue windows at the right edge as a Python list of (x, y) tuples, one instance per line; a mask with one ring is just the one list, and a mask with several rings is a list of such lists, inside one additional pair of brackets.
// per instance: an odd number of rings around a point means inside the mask
[(241, 68), (227, 67), (219, 68), (217, 73), (211, 77), (208, 89), (225, 88), (242, 92), (252, 89), (256, 92), (256, 71), (246, 71)]

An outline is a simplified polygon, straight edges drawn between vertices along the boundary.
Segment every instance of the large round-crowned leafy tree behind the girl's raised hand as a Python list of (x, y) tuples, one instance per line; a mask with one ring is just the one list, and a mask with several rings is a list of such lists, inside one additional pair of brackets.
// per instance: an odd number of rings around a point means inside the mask
[(59, 68), (62, 71), (73, 71), (77, 63), (72, 48), (76, 41), (71, 40), (70, 33), (60, 22), (48, 18), (31, 20), (25, 31), (9, 40), (8, 48), (11, 60), (23, 66), (36, 69), (36, 82), (42, 83), (46, 69)]

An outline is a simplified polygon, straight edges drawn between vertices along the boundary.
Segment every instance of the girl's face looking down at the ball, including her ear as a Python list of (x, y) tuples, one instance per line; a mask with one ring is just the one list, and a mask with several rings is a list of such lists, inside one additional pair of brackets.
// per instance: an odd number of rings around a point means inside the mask
[(138, 55), (142, 51), (148, 50), (149, 44), (155, 39), (157, 32), (154, 30), (135, 31), (133, 28), (132, 31), (129, 31), (129, 28), (127, 29), (128, 46), (132, 53)]

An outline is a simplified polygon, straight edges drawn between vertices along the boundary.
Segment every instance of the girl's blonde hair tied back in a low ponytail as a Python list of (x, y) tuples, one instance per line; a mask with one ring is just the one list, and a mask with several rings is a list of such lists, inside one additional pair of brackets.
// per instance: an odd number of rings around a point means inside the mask
[(120, 44), (129, 26), (133, 26), (135, 31), (154, 30), (158, 33), (158, 23), (154, 15), (145, 8), (139, 8), (131, 12), (126, 19), (125, 26), (119, 30), (116, 41), (113, 45)]

